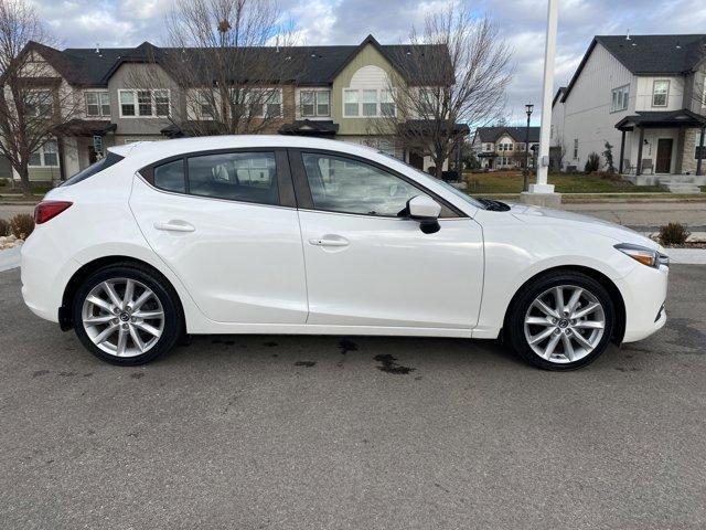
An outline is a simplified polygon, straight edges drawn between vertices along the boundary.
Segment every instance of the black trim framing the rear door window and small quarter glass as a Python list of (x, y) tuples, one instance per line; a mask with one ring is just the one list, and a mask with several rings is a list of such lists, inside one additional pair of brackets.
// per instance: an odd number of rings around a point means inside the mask
[[(210, 195), (197, 195), (190, 192), (189, 189), (189, 159), (197, 158), (197, 157), (207, 157), (210, 155), (233, 155), (238, 152), (271, 152), (275, 155), (275, 166), (276, 166), (276, 174), (277, 174), (277, 191), (279, 194), (279, 202), (277, 204), (267, 204), (264, 202), (257, 201), (245, 201), (245, 200), (236, 200), (236, 199), (227, 199), (224, 197), (210, 197)], [(174, 160), (182, 160), (184, 165), (184, 190), (181, 191), (171, 191), (164, 190), (162, 188), (158, 188), (154, 186), (154, 168), (158, 166), (163, 166), (165, 163), (173, 162)], [(297, 200), (295, 194), (295, 188), (292, 184), (291, 172), (289, 169), (289, 159), (287, 155), (287, 149), (284, 147), (238, 147), (238, 148), (225, 148), (225, 149), (206, 149), (202, 151), (192, 151), (192, 152), (183, 152), (180, 155), (175, 155), (173, 157), (162, 158), (156, 162), (150, 163), (141, 168), (138, 173), (147, 181), (156, 190), (162, 193), (175, 193), (178, 195), (188, 195), (196, 199), (210, 199), (210, 200), (220, 200), (220, 201), (228, 201), (228, 202), (238, 202), (244, 204), (257, 204), (260, 206), (275, 206), (275, 208), (297, 208)]]

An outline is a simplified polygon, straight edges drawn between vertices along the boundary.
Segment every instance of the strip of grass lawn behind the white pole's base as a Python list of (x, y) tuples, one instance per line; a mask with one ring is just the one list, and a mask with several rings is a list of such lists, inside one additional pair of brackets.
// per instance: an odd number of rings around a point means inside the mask
[[(520, 193), (522, 173), (518, 171), (494, 171), (488, 173), (466, 173), (468, 193)], [(530, 174), (530, 183), (534, 182)], [(549, 183), (558, 193), (655, 193), (664, 192), (659, 186), (634, 186), (618, 176), (549, 174)]]

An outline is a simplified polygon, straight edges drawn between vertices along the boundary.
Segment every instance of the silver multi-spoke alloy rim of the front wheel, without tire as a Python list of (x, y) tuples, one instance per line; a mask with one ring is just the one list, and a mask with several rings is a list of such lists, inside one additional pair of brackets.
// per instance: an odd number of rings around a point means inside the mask
[(530, 305), (524, 331), (530, 348), (554, 363), (576, 362), (600, 343), (606, 311), (589, 290), (558, 285), (545, 290)]

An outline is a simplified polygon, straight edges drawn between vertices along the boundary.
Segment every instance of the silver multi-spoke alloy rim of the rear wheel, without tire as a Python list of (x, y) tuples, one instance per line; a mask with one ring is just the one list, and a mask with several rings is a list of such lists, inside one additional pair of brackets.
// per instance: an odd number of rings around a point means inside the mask
[(161, 301), (132, 278), (111, 278), (96, 285), (84, 300), (82, 319), (93, 343), (116, 357), (149, 351), (164, 330)]

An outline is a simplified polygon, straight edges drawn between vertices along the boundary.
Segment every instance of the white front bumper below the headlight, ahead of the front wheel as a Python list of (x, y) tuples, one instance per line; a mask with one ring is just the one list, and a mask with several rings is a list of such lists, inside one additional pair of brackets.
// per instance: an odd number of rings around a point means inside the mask
[(620, 280), (625, 304), (623, 342), (642, 340), (666, 324), (664, 300), (667, 293), (668, 267), (637, 266)]

